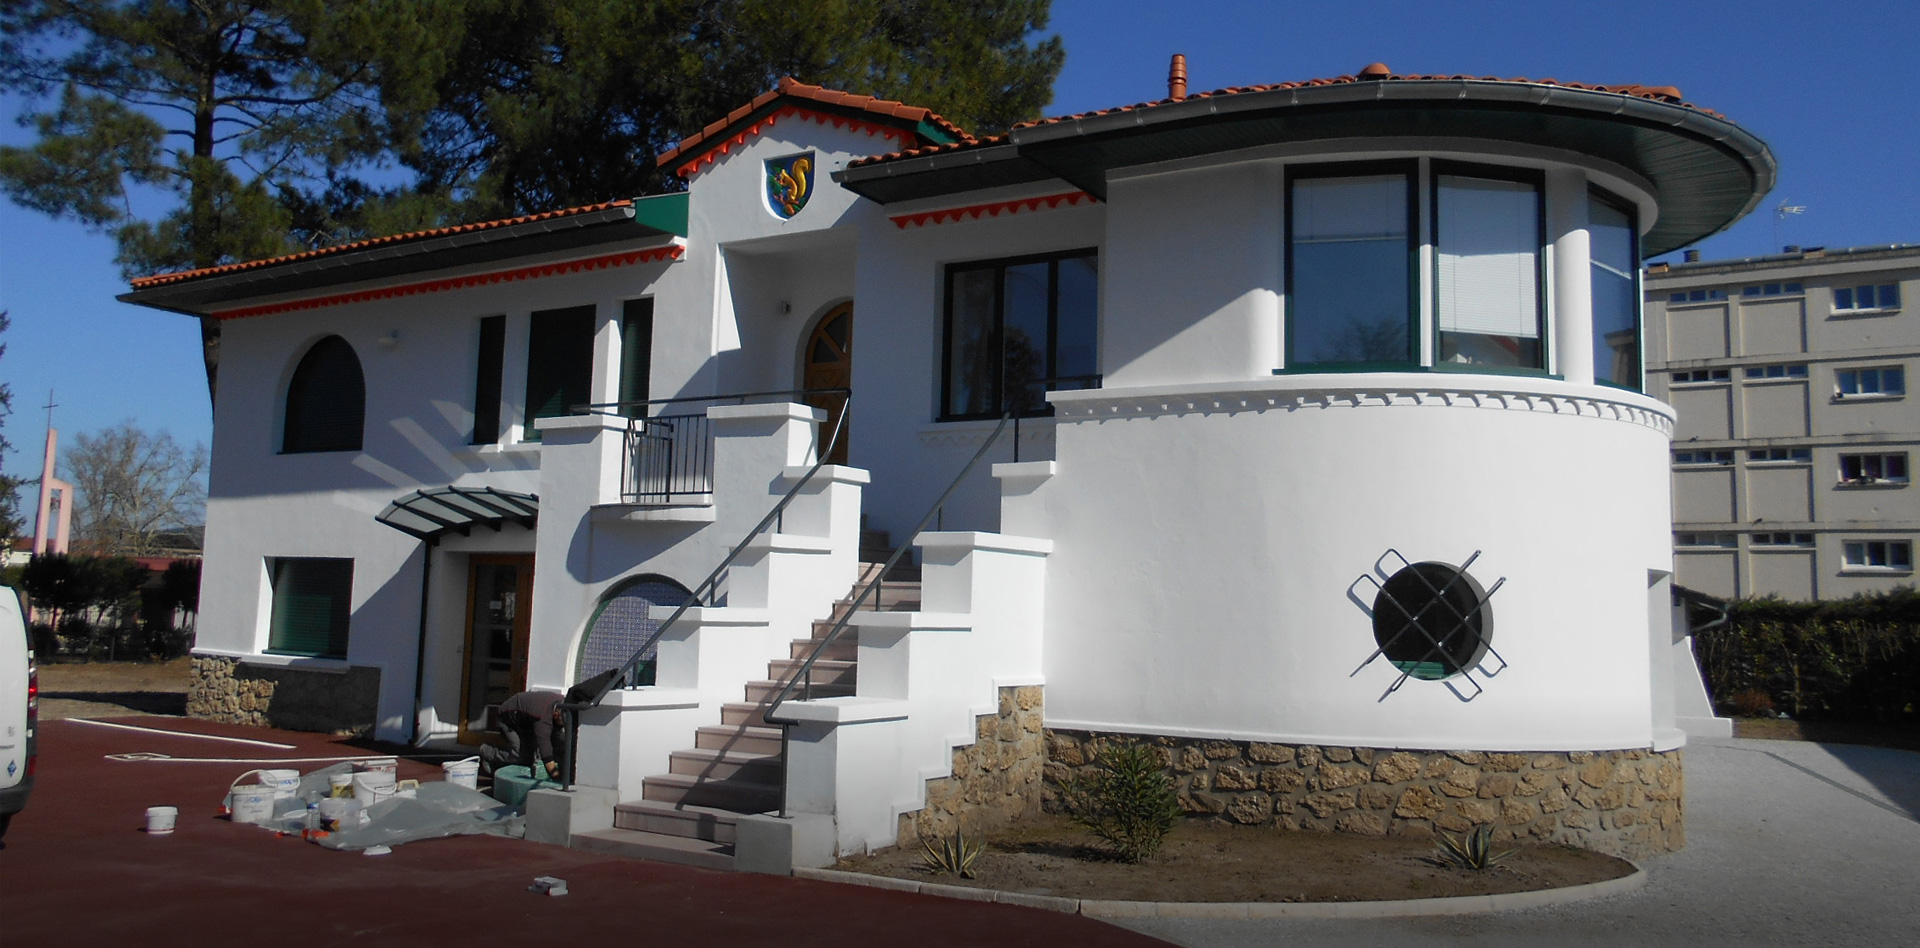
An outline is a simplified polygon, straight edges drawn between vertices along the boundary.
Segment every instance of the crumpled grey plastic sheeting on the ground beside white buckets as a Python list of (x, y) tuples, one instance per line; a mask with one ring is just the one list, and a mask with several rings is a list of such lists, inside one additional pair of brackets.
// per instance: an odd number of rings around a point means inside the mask
[[(334, 764), (303, 773), (294, 796), (275, 800), (273, 819), (263, 825), (300, 833), (307, 825), (307, 804), (326, 798), (328, 777), (351, 771), (351, 764)], [(518, 806), (501, 806), (499, 800), (480, 791), (445, 781), (420, 783), (413, 798), (390, 796), (363, 808), (363, 812), (361, 825), (336, 829), (313, 841), (330, 850), (365, 850), (476, 833), (513, 839), (526, 835), (526, 816)]]

